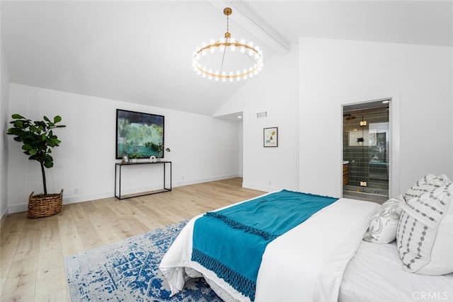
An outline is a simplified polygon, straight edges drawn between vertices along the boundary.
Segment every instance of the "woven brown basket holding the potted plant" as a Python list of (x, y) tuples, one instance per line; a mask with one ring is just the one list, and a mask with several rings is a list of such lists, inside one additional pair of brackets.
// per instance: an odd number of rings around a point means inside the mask
[(28, 197), (28, 218), (48, 217), (58, 214), (63, 208), (63, 190), (59, 194), (40, 194)]

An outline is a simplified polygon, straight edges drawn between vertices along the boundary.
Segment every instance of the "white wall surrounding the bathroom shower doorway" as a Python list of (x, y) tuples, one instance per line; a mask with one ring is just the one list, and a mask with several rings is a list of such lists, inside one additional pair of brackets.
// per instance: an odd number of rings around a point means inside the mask
[[(341, 196), (341, 105), (393, 96), (392, 195), (427, 173), (453, 178), (453, 49), (299, 39), (299, 189)], [(398, 167), (399, 165), (399, 167)], [(391, 167), (392, 168), (392, 167)]]

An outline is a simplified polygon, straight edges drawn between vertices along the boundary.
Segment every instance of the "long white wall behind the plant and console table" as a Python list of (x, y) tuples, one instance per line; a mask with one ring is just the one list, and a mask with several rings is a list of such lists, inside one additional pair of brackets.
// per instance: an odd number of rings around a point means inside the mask
[[(239, 176), (236, 142), (241, 127), (237, 122), (15, 83), (10, 86), (10, 116), (20, 113), (41, 120), (43, 115), (61, 115), (62, 124), (67, 125), (55, 130), (62, 144), (52, 152), (55, 166), (46, 170), (47, 191), (64, 189), (64, 203), (113, 196), (117, 108), (165, 116), (165, 144), (171, 152), (164, 159), (173, 162), (173, 187)], [(11, 136), (8, 139), (9, 211), (25, 211), (29, 194), (42, 192), (39, 163), (28, 161), (21, 144)], [(129, 187), (124, 190), (161, 182), (161, 174), (142, 167), (129, 176), (127, 180), (125, 175)], [(75, 194), (74, 189), (79, 192)]]

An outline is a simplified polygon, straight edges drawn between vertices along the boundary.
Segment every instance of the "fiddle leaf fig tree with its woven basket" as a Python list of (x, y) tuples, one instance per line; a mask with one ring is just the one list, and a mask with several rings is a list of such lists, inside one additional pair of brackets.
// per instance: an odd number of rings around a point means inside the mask
[(32, 122), (22, 115), (14, 114), (9, 122), (13, 127), (8, 129), (7, 134), (13, 135), (15, 141), (22, 143), (23, 153), (30, 161), (38, 161), (41, 166), (42, 187), (44, 194), (34, 195), (32, 192), (28, 198), (28, 217), (38, 218), (52, 216), (62, 211), (63, 190), (59, 194), (47, 194), (47, 182), (45, 168), (52, 168), (54, 158), (50, 155), (52, 148), (59, 146), (61, 141), (54, 134), (56, 128), (66, 127), (59, 124), (62, 117), (55, 116), (53, 120), (43, 117), (41, 121)]

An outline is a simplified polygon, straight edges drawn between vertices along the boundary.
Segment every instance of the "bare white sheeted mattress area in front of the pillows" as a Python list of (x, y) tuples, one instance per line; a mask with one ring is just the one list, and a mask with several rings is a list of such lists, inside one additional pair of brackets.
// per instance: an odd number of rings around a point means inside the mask
[(453, 274), (406, 272), (395, 243), (362, 241), (345, 269), (338, 301), (453, 301)]

